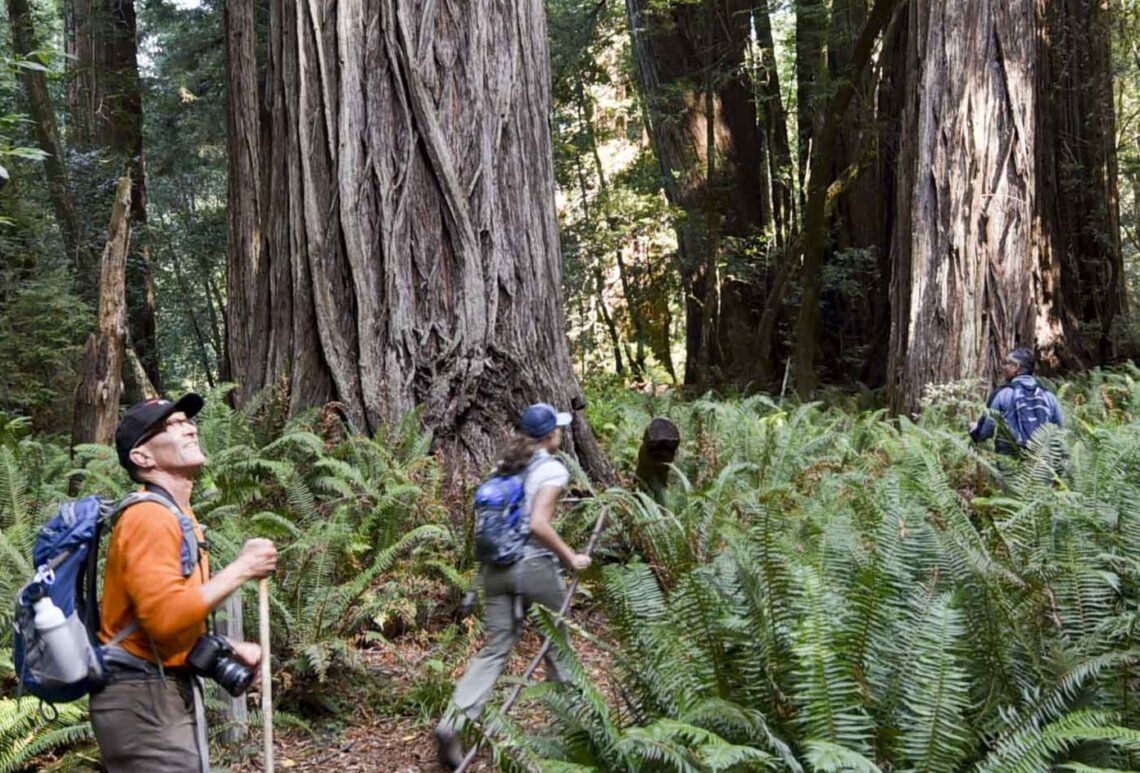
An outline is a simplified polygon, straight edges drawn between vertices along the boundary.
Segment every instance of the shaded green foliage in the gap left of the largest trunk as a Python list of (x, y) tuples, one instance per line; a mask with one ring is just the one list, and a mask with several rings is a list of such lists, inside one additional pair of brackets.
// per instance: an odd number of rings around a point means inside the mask
[(226, 46), (221, 2), (144, 3), (146, 241), (168, 383), (213, 385), (225, 356)]

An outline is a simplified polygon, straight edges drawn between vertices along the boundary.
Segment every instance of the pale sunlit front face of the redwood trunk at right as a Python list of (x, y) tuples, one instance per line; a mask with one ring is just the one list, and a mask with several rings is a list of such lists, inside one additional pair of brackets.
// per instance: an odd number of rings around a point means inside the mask
[(1032, 1), (968, 5), (935, 3), (915, 19), (927, 56), (897, 364), (907, 407), (925, 384), (985, 373), (1001, 350), (1033, 341)]

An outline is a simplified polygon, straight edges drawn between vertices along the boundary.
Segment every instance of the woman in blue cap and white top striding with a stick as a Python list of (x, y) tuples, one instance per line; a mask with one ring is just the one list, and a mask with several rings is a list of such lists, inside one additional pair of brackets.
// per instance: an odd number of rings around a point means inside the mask
[[(530, 519), (530, 538), (522, 559), (510, 567), (483, 564), (483, 628), (487, 641), (455, 685), (451, 702), (433, 734), (440, 763), (454, 770), (463, 762), (458, 731), (475, 719), (491, 695), (495, 681), (522, 634), (522, 608), (538, 603), (553, 612), (562, 605), (562, 568), (580, 571), (589, 567), (588, 555), (576, 553), (554, 530), (559, 498), (570, 482), (565, 465), (552, 451), (562, 445), (563, 428), (571, 416), (538, 402), (519, 417), (519, 431), (507, 442), (497, 465), (500, 475), (523, 472), (523, 512)], [(519, 603), (521, 602), (521, 604)], [(557, 656), (546, 656), (546, 678), (562, 682), (564, 667)]]

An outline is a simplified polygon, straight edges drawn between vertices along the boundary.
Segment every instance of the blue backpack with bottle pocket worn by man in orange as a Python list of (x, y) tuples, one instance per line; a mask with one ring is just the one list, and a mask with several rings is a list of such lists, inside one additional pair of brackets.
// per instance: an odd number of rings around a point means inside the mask
[[(138, 491), (116, 502), (90, 496), (67, 502), (35, 536), (32, 562), (35, 576), (16, 594), (14, 661), (19, 677), (18, 691), (48, 703), (65, 703), (97, 690), (105, 680), (103, 656), (138, 628), (138, 620), (120, 630), (106, 645), (99, 642), (98, 565), (99, 540), (104, 527), (119, 513), (140, 502), (155, 502), (170, 510), (182, 530), (182, 576), (188, 577), (198, 563), (198, 538), (192, 519), (166, 497)], [(47, 596), (66, 618), (72, 657), (85, 659), (87, 676), (74, 680), (72, 664), (59, 664), (56, 653), (35, 628), (35, 602)], [(68, 675), (68, 676), (64, 676)]]

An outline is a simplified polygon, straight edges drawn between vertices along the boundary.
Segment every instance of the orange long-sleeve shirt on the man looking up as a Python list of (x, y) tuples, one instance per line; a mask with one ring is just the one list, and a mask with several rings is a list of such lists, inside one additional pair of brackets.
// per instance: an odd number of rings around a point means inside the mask
[[(194, 513), (198, 539), (202, 528)], [(111, 532), (101, 601), (99, 636), (104, 642), (130, 625), (139, 628), (121, 646), (133, 656), (154, 661), (150, 640), (163, 666), (186, 665), (194, 642), (205, 633), (206, 607), (198, 588), (210, 576), (209, 559), (201, 554), (189, 577), (182, 577), (182, 529), (178, 516), (154, 502), (128, 507)]]

